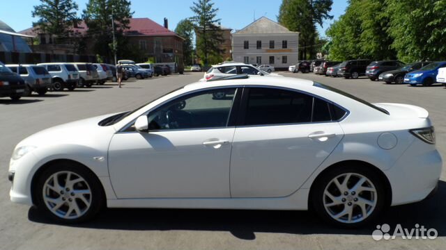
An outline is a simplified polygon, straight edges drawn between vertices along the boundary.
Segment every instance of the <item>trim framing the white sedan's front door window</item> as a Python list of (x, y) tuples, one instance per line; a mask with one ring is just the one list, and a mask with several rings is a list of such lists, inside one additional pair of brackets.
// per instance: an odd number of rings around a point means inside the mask
[[(146, 110), (144, 113), (142, 113), (138, 117), (143, 116), (143, 115), (148, 115), (153, 110), (156, 110), (157, 108), (160, 108), (164, 104), (169, 103), (170, 101), (174, 101), (175, 99), (178, 99), (178, 98), (187, 97), (189, 95), (196, 94), (196, 93), (199, 93), (199, 92), (206, 92), (206, 91), (209, 91), (209, 90), (218, 90), (218, 89), (228, 89), (228, 88), (235, 88), (236, 89), (236, 94), (235, 94), (235, 97), (233, 99), (231, 110), (229, 110), (229, 117), (228, 117), (228, 120), (226, 122), (226, 126), (221, 126), (221, 127), (203, 127), (203, 128), (178, 128), (178, 129), (169, 129), (169, 130), (150, 130), (150, 131), (148, 131), (148, 133), (151, 133), (151, 132), (159, 133), (159, 132), (170, 132), (170, 131), (192, 131), (192, 130), (204, 130), (204, 129), (209, 130), (209, 129), (235, 128), (235, 126), (236, 126), (236, 119), (237, 119), (236, 115), (238, 114), (238, 109), (240, 107), (240, 99), (241, 99), (242, 94), (243, 94), (243, 90), (242, 90), (243, 86), (240, 86), (240, 85), (210, 87), (210, 88), (203, 88), (203, 89), (199, 89), (199, 90), (193, 90), (193, 91), (190, 91), (190, 92), (185, 92), (183, 94), (179, 94), (179, 95), (177, 95), (175, 97), (172, 97), (171, 99), (163, 101), (162, 103), (158, 104), (157, 106), (155, 106), (155, 107), (153, 107), (153, 108), (151, 108), (149, 110)], [(156, 100), (157, 99), (155, 99), (153, 101), (156, 101)], [(146, 103), (146, 105), (148, 105), (148, 104), (150, 104), (150, 103)], [(144, 106), (146, 106), (146, 105), (144, 105)], [(234, 107), (236, 107), (236, 108), (234, 108)], [(130, 126), (132, 126), (137, 121), (138, 117), (136, 117), (132, 121), (130, 121), (127, 124), (125, 124), (122, 128), (120, 128), (118, 131), (116, 131), (116, 134), (118, 134), (118, 133), (139, 133), (138, 131), (126, 131), (128, 128), (130, 128)]]

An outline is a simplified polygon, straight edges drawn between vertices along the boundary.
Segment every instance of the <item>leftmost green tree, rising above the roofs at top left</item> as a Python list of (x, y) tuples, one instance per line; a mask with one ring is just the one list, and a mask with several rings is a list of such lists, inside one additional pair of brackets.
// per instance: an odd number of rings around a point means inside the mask
[(78, 8), (72, 0), (40, 0), (40, 5), (34, 6), (31, 12), (39, 18), (33, 27), (54, 35), (56, 42), (63, 42), (72, 34), (72, 27), (80, 22)]

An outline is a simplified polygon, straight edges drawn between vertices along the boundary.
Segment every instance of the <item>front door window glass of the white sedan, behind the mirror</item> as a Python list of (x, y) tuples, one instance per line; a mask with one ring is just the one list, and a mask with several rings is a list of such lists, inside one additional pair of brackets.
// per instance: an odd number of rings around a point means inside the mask
[(206, 90), (164, 104), (148, 114), (148, 130), (227, 126), (236, 88)]

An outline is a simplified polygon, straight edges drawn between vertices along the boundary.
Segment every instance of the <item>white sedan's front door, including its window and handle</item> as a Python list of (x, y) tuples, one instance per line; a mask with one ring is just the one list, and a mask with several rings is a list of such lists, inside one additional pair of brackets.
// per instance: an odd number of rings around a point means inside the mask
[(230, 197), (236, 88), (179, 97), (148, 113), (149, 132), (116, 133), (109, 174), (118, 199)]

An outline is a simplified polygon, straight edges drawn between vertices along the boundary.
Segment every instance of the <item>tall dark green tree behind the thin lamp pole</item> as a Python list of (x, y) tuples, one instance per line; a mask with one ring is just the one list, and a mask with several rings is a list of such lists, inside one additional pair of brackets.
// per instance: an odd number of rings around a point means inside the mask
[(116, 34), (116, 49), (118, 56), (132, 53), (129, 44), (123, 38), (123, 32), (129, 28), (130, 18), (133, 12), (130, 10), (128, 0), (89, 0), (82, 18), (89, 27), (87, 35), (93, 38), (94, 53), (107, 58), (112, 58), (114, 44), (112, 36), (112, 17)]

